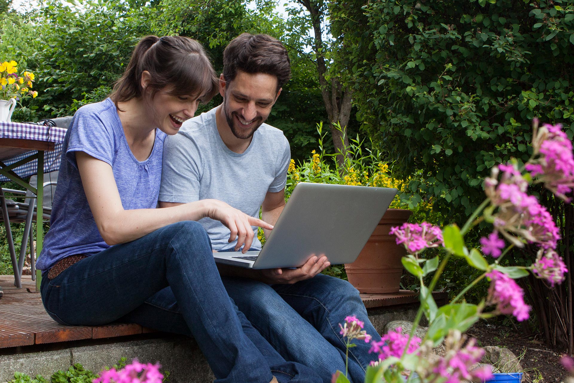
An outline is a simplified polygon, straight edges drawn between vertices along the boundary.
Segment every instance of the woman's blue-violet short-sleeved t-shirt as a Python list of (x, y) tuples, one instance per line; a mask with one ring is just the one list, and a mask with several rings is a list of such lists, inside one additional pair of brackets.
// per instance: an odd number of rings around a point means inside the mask
[(123, 133), (111, 99), (81, 107), (74, 114), (64, 139), (50, 230), (38, 257), (37, 268), (48, 270), (74, 254), (92, 255), (110, 247), (104, 242), (88, 205), (77, 170), (76, 152), (84, 152), (111, 165), (125, 210), (155, 208), (160, 192), (165, 133), (156, 129), (152, 154), (138, 161)]

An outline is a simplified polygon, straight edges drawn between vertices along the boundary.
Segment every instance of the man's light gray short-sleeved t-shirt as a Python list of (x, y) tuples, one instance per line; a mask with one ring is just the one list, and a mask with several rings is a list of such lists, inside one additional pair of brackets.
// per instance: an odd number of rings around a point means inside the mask
[[(289, 142), (281, 130), (263, 123), (245, 152), (232, 152), (219, 136), (216, 109), (185, 121), (175, 136), (166, 138), (159, 199), (174, 203), (218, 199), (259, 218), (266, 193), (285, 187)], [(218, 220), (199, 222), (214, 250), (235, 246), (236, 241), (227, 242), (230, 231)], [(261, 249), (257, 235), (251, 247)]]

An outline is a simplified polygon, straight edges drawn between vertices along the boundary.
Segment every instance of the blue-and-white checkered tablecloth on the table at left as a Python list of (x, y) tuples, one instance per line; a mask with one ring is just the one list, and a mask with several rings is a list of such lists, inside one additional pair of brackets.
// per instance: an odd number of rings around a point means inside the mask
[[(53, 152), (44, 152), (44, 173), (53, 172), (60, 168), (60, 158), (63, 145), (62, 143), (64, 142), (64, 137), (67, 130), (68, 129), (57, 126), (48, 127), (44, 125), (36, 125), (33, 123), (0, 121), (0, 138), (20, 138), (23, 140), (55, 142), (56, 145)], [(34, 153), (36, 153), (36, 150), (30, 150), (29, 152), (18, 154), (17, 156), (11, 157), (2, 162), (6, 165), (10, 165)], [(36, 174), (37, 169), (38, 160), (33, 160), (27, 164), (15, 168), (14, 172), (18, 176), (25, 179)], [(0, 176), (0, 181), (9, 181), (9, 179), (4, 176)]]

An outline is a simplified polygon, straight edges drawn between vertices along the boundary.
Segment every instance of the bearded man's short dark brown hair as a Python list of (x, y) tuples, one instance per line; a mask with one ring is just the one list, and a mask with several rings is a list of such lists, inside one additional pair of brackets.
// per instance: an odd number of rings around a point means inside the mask
[(242, 33), (223, 51), (223, 78), (235, 79), (237, 71), (267, 73), (277, 77), (277, 90), (291, 78), (287, 50), (277, 38), (267, 34)]

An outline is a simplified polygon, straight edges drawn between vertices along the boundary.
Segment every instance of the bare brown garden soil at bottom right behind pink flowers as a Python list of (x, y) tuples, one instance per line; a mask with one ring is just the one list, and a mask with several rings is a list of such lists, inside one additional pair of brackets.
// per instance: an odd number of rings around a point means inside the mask
[(560, 356), (566, 350), (549, 347), (542, 342), (541, 334), (526, 335), (520, 328), (502, 324), (476, 323), (467, 335), (478, 339), (479, 346), (508, 347), (519, 359), (528, 375), (522, 382), (554, 383), (565, 382), (567, 373), (560, 364)]

